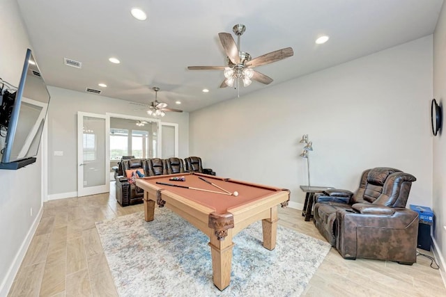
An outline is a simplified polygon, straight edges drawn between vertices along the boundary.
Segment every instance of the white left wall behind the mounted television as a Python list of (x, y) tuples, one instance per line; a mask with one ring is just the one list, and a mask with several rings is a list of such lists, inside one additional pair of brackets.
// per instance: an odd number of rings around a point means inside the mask
[[(29, 36), (15, 0), (2, 0), (0, 11), (0, 77), (18, 86), (26, 49), (31, 48)], [(38, 223), (42, 207), (41, 160), (39, 154), (38, 161), (29, 166), (0, 170), (0, 296), (8, 294)]]

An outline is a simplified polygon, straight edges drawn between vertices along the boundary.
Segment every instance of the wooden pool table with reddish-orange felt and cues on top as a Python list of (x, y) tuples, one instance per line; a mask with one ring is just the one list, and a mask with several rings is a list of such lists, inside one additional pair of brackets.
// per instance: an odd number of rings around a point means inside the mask
[[(185, 180), (171, 180), (180, 177)], [(209, 237), (213, 281), (220, 290), (231, 281), (233, 236), (256, 220), (262, 220), (263, 246), (274, 249), (279, 220), (277, 206), (288, 205), (290, 196), (289, 190), (283, 188), (196, 172), (142, 177), (136, 179), (136, 185), (144, 189), (147, 222), (154, 219), (156, 203), (182, 216)]]

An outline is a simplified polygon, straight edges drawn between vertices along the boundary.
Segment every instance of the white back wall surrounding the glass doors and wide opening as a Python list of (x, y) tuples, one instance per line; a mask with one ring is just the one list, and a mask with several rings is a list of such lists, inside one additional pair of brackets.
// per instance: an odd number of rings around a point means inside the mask
[[(77, 192), (77, 112), (116, 113), (146, 117), (127, 101), (49, 86), (48, 195), (51, 199), (75, 196)], [(167, 113), (162, 122), (179, 126), (179, 156), (189, 154), (189, 113)], [(54, 156), (54, 151), (63, 156)]]

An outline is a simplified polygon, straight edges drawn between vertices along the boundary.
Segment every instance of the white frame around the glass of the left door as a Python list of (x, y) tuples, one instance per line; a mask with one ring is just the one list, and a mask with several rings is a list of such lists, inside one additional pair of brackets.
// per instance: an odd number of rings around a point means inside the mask
[[(105, 184), (100, 186), (90, 186), (89, 188), (84, 188), (84, 170), (82, 170), (82, 166), (84, 165), (84, 150), (83, 150), (83, 122), (84, 116), (92, 117), (92, 118), (103, 118), (105, 119)], [(110, 171), (110, 118), (107, 115), (100, 115), (98, 113), (84, 113), (82, 111), (77, 112), (77, 197), (86, 196), (86, 195), (94, 195), (98, 193), (106, 193), (110, 191), (110, 182), (109, 182), (109, 171)]]

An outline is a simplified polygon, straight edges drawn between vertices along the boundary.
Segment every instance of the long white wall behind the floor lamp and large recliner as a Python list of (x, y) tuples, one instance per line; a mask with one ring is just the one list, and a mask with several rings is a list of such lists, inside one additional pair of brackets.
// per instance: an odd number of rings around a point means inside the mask
[(417, 177), (409, 203), (431, 206), (431, 97), (430, 35), (195, 111), (190, 153), (222, 177), (289, 188), (302, 207), (309, 134), (312, 185), (355, 190), (363, 170), (394, 167)]

